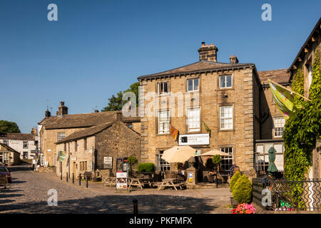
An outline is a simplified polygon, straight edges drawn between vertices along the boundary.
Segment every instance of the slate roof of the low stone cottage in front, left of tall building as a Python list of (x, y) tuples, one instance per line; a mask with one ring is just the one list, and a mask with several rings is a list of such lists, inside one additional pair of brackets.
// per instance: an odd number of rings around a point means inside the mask
[[(121, 123), (126, 128), (128, 128), (120, 120), (111, 120), (108, 123), (103, 123), (101, 125), (93, 126), (91, 128), (87, 128), (85, 130), (81, 130), (81, 131), (78, 131), (76, 133), (72, 133), (71, 135), (68, 135), (68, 137), (64, 138), (63, 140), (60, 140), (59, 142), (56, 142), (56, 144), (60, 144), (60, 143), (63, 143), (63, 142), (70, 142), (70, 141), (73, 141), (73, 140), (78, 140), (78, 139), (81, 139), (81, 138), (87, 138), (87, 137), (96, 135), (97, 133), (101, 133), (103, 130), (106, 130), (107, 128), (111, 127), (111, 125), (113, 125), (114, 123)], [(129, 128), (129, 129), (131, 129), (131, 128)], [(133, 130), (133, 132), (136, 133), (136, 131), (134, 131), (134, 130)]]

